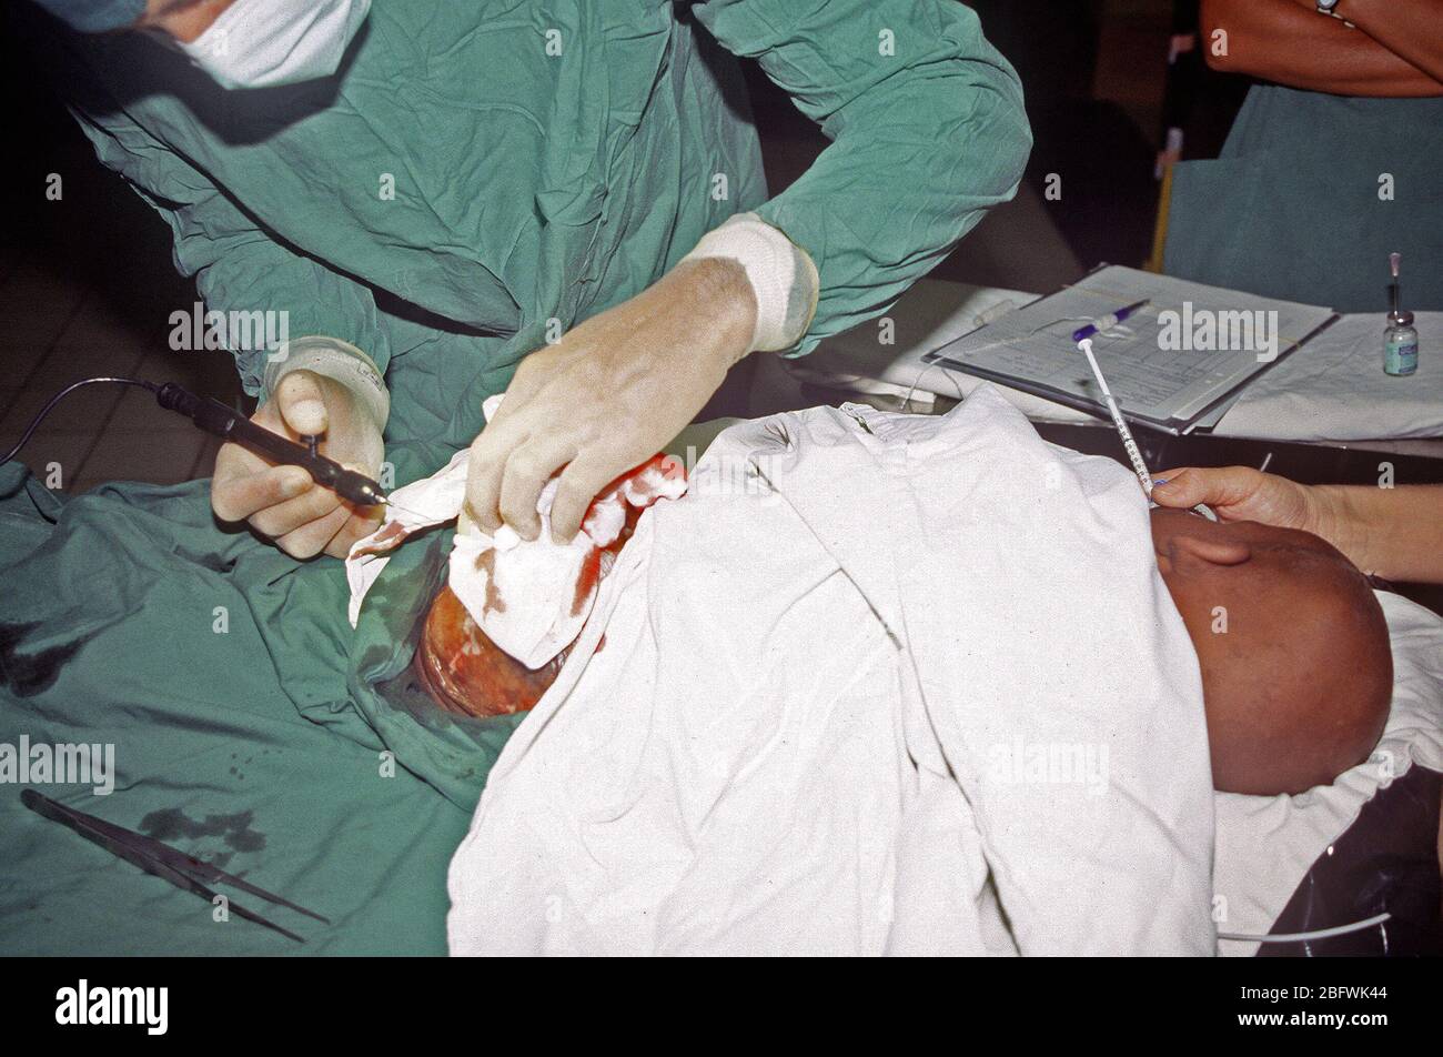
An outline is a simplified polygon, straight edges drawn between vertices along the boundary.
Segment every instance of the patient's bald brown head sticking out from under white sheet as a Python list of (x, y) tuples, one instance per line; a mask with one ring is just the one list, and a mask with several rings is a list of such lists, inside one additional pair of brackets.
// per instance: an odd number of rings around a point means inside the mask
[(1368, 758), (1392, 697), (1367, 579), (1316, 536), (1153, 510), (1157, 567), (1198, 661), (1225, 793), (1302, 793)]

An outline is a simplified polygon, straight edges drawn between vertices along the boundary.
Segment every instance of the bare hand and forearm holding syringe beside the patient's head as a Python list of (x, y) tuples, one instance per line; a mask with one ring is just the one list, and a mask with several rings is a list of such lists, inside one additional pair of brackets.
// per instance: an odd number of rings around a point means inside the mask
[(1206, 503), (1224, 521), (1302, 528), (1338, 547), (1365, 573), (1401, 583), (1443, 583), (1443, 485), (1300, 485), (1250, 466), (1166, 471), (1159, 505)]

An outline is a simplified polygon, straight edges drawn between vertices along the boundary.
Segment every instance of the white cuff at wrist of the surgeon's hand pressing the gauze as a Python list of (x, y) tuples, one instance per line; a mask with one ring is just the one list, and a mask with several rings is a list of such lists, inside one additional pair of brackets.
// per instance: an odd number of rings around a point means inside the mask
[(737, 261), (756, 297), (752, 351), (791, 348), (811, 326), (821, 283), (807, 251), (755, 212), (729, 217), (683, 260), (729, 257)]

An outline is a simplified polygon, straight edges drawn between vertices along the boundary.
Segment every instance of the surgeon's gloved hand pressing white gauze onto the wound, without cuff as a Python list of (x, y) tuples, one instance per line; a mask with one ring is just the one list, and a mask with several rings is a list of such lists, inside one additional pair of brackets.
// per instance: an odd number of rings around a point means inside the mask
[(592, 498), (680, 433), (752, 351), (756, 318), (742, 264), (684, 260), (528, 355), (470, 446), (470, 516), (486, 533), (505, 521), (534, 540), (537, 498), (561, 471), (551, 534), (574, 537)]

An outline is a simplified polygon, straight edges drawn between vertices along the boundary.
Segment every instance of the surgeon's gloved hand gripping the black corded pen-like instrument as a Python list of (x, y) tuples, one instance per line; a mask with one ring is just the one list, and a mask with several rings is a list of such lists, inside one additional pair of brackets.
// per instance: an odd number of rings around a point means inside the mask
[[(290, 440), (322, 435), (317, 451), (368, 477), (385, 456), (381, 426), (354, 388), (309, 370), (278, 380), (271, 399), (251, 422)], [(261, 456), (227, 443), (215, 459), (211, 508), (222, 521), (247, 521), (293, 557), (325, 552), (345, 557), (351, 544), (378, 527), (380, 507), (356, 507), (329, 488), (317, 487), (300, 466), (274, 466)]]

